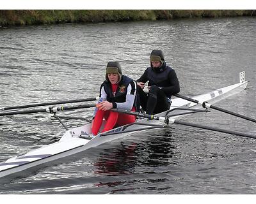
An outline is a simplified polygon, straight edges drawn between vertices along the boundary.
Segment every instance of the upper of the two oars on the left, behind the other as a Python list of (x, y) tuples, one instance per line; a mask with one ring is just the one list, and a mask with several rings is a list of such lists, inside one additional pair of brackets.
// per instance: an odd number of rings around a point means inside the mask
[(64, 104), (64, 103), (78, 103), (78, 102), (85, 102), (85, 101), (95, 101), (99, 99), (99, 97), (94, 98), (83, 98), (83, 99), (74, 99), (74, 100), (66, 100), (66, 101), (52, 101), (47, 103), (35, 103), (35, 104), (29, 104), (29, 105), (21, 105), (21, 106), (6, 106), (3, 108), (0, 108), (0, 110), (11, 110), (11, 109), (20, 109), (20, 108), (31, 108), (31, 107), (38, 107), (38, 106), (49, 106), (49, 105), (58, 105), (58, 104)]

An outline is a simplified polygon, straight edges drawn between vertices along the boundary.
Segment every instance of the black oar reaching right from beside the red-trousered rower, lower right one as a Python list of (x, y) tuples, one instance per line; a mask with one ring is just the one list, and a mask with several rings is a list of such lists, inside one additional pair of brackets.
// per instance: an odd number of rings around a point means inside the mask
[[(229, 131), (229, 130), (226, 130), (226, 129), (202, 126), (202, 125), (199, 125), (199, 124), (193, 124), (193, 123), (190, 123), (190, 122), (184, 122), (184, 121), (181, 121), (181, 120), (175, 120), (175, 119), (172, 119), (172, 118), (170, 118), (168, 116), (161, 117), (161, 116), (157, 116), (157, 115), (148, 115), (148, 114), (145, 114), (145, 113), (131, 112), (129, 110), (123, 110), (123, 109), (118, 109), (118, 108), (111, 109), (111, 110), (113, 110), (115, 112), (118, 112), (118, 113), (126, 113), (126, 114), (129, 114), (129, 115), (136, 115), (138, 117), (144, 117), (144, 118), (147, 118), (147, 119), (150, 119), (150, 120), (159, 120), (161, 122), (165, 122), (166, 124), (170, 124), (170, 123), (181, 124), (181, 125), (190, 126), (190, 127), (193, 127), (193, 128), (208, 129), (208, 130), (211, 130), (211, 131), (227, 133), (227, 134), (231, 134), (231, 135), (239, 135), (239, 136), (244, 136), (244, 137), (247, 137), (247, 138), (256, 139), (255, 135), (249, 135), (249, 134), (246, 134), (246, 133), (239, 133), (239, 132), (236, 132), (236, 131)], [(147, 125), (147, 124), (145, 124), (145, 125)]]

